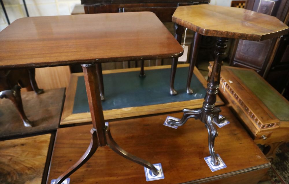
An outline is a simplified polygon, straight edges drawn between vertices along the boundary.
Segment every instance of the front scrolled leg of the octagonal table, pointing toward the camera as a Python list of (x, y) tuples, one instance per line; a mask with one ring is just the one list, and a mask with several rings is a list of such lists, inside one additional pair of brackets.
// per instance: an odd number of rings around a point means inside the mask
[(214, 125), (212, 114), (206, 115), (206, 121), (207, 122), (205, 123), (205, 126), (207, 127), (208, 134), (209, 134), (208, 142), (209, 142), (209, 151), (211, 154), (211, 162), (212, 164), (217, 166), (219, 165), (220, 162), (219, 162), (218, 156), (215, 154), (214, 143), (215, 143), (215, 138), (218, 136), (218, 131)]

